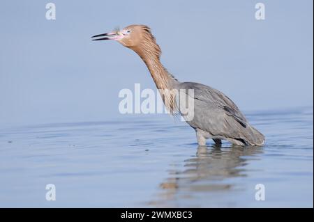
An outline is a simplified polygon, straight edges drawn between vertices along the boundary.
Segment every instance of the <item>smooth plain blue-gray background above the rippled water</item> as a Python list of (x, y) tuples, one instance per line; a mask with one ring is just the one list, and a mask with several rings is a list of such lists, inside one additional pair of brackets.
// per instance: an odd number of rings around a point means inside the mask
[(91, 35), (147, 24), (180, 81), (223, 91), (243, 111), (313, 105), (313, 1), (1, 1), (0, 124), (119, 118), (122, 88), (155, 88), (117, 42)]

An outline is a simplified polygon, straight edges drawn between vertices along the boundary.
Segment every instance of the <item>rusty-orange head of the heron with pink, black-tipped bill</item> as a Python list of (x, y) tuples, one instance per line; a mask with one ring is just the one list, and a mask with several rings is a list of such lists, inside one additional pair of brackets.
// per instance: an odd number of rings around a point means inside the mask
[(93, 40), (116, 40), (125, 47), (133, 49), (137, 54), (142, 54), (143, 49), (150, 49), (151, 52), (159, 57), (160, 48), (156, 43), (154, 35), (151, 34), (151, 29), (142, 24), (133, 24), (126, 26), (121, 30), (114, 30), (110, 33), (94, 35)]

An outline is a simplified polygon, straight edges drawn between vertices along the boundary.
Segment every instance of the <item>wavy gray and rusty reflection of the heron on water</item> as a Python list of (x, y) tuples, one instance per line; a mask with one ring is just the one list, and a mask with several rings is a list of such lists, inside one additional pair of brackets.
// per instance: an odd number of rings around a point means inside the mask
[[(169, 177), (160, 184), (158, 200), (153, 205), (164, 201), (191, 198), (194, 193), (227, 191), (234, 184), (227, 180), (232, 177), (246, 177), (248, 159), (258, 159), (262, 153), (260, 147), (199, 146), (194, 157), (184, 161), (184, 167), (174, 165)], [(178, 196), (177, 194), (184, 194)]]

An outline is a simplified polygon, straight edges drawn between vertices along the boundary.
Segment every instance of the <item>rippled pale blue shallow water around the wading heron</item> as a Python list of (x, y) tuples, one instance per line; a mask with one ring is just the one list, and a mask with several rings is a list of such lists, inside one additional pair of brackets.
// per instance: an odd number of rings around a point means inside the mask
[(264, 146), (197, 148), (160, 115), (2, 128), (0, 207), (313, 207), (313, 108), (246, 117)]

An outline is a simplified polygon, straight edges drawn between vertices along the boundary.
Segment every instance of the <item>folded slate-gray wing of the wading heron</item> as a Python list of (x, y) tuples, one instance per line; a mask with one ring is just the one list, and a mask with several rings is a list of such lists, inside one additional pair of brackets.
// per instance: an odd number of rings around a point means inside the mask
[(179, 89), (194, 90), (193, 120), (187, 121), (193, 128), (202, 129), (213, 136), (244, 139), (248, 143), (257, 144), (264, 136), (252, 127), (229, 97), (220, 91), (193, 82), (179, 84)]

